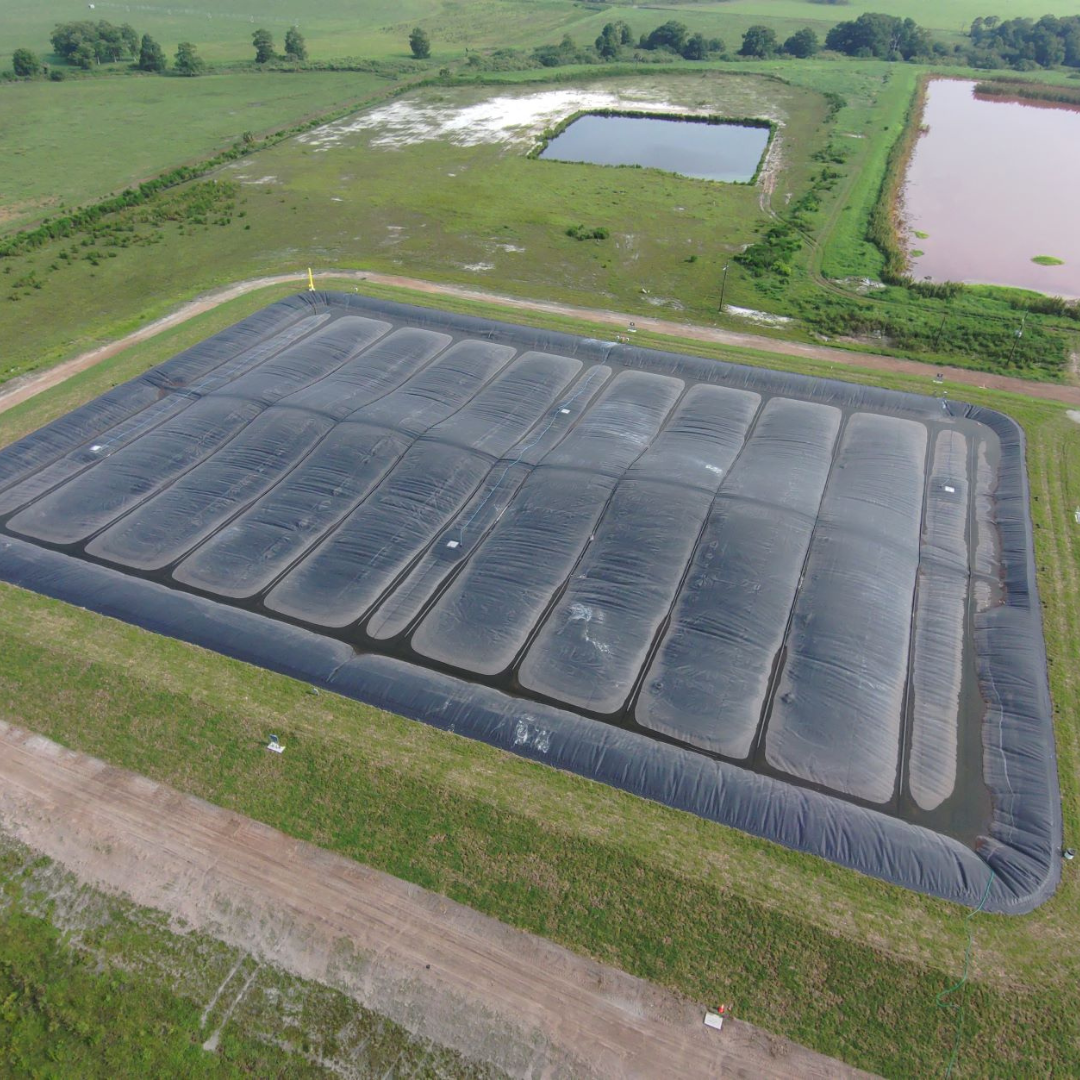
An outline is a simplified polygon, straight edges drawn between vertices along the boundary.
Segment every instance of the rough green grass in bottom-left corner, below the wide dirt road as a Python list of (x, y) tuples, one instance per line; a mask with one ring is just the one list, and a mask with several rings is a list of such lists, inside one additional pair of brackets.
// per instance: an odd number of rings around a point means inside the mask
[[(207, 1052), (214, 1032), (218, 1049)], [(494, 1076), (337, 990), (204, 934), (174, 932), (162, 913), (80, 885), (0, 835), (5, 1077), (284, 1080), (391, 1068)]]

